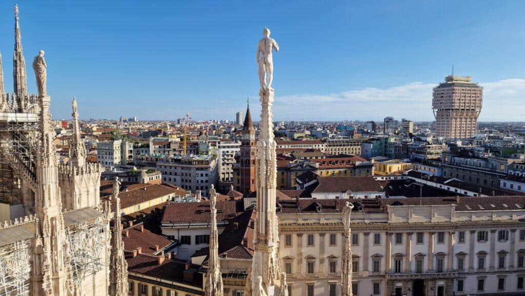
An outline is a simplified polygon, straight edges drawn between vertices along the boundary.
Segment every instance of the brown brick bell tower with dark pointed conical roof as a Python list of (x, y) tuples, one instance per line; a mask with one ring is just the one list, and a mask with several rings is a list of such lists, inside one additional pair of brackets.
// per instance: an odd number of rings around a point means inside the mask
[(240, 192), (249, 195), (255, 192), (255, 129), (251, 121), (250, 105), (246, 109), (243, 134), (240, 141)]

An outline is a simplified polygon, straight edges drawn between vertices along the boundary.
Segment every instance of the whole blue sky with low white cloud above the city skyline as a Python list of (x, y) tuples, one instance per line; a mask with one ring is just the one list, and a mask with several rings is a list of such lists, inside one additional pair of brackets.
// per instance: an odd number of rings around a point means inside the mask
[[(8, 91), (15, 3), (0, 6)], [(247, 96), (258, 114), (255, 50), (268, 26), (280, 47), (276, 120), (432, 120), (432, 87), (453, 63), (485, 87), (480, 120), (525, 120), (523, 1), (18, 4), (29, 89), (44, 49), (54, 118), (70, 116), (74, 95), (81, 118), (234, 119)]]

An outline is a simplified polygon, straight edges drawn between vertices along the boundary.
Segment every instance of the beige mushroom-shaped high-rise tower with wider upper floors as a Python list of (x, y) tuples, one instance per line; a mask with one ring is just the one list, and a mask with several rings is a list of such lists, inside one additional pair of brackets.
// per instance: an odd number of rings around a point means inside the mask
[(476, 133), (481, 112), (483, 88), (472, 77), (449, 75), (434, 87), (432, 108), (436, 117), (436, 136), (468, 138)]

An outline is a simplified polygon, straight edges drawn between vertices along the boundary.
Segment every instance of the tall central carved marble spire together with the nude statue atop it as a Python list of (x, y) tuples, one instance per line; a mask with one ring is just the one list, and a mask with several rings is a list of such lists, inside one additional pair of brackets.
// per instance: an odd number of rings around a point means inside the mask
[[(277, 162), (276, 142), (274, 140), (273, 115), (274, 90), (270, 87), (273, 72), (271, 52), (278, 50), (277, 43), (271, 39), (270, 30), (265, 29), (265, 38), (257, 47), (259, 79), (261, 88), (260, 134), (257, 141), (255, 167), (258, 170), (256, 181), (257, 217), (254, 233), (254, 257), (246, 282), (246, 296), (286, 296), (286, 278), (280, 271), (279, 230), (277, 218)], [(266, 75), (268, 74), (268, 80)]]

